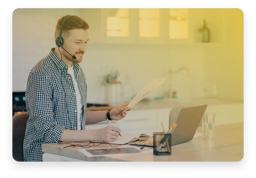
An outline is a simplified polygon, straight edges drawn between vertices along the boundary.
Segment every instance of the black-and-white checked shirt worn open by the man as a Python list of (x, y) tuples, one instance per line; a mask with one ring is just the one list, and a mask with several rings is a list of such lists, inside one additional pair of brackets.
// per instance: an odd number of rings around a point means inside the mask
[[(59, 142), (64, 129), (77, 130), (77, 99), (68, 66), (50, 50), (30, 71), (26, 88), (27, 121), (23, 143), (24, 161), (43, 161), (42, 144)], [(82, 128), (85, 129), (87, 86), (84, 73), (73, 63), (83, 98)], [(84, 112), (86, 111), (86, 112)]]

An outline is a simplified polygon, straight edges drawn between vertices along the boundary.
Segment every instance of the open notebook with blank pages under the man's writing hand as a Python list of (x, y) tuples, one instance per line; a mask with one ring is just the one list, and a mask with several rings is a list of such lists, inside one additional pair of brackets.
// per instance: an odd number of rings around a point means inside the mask
[(117, 139), (113, 142), (100, 142), (100, 141), (93, 141), (93, 140), (91, 140), (90, 142), (124, 145), (132, 141), (145, 140), (148, 138), (151, 138), (151, 135), (147, 133), (121, 133), (121, 136), (118, 136)]

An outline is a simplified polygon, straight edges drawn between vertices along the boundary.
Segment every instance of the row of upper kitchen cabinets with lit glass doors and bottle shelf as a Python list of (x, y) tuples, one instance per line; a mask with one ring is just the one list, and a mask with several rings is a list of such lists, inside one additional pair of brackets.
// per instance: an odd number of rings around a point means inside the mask
[[(182, 44), (218, 46), (224, 44), (222, 8), (81, 8), (88, 22), (90, 43)], [(198, 31), (206, 20), (210, 43), (203, 43)]]

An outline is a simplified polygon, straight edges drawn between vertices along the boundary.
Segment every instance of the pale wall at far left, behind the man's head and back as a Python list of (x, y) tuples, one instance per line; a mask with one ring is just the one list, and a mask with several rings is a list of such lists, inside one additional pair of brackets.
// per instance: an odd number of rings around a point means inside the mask
[(79, 9), (15, 9), (12, 14), (12, 90), (25, 91), (28, 73), (55, 46), (57, 21)]

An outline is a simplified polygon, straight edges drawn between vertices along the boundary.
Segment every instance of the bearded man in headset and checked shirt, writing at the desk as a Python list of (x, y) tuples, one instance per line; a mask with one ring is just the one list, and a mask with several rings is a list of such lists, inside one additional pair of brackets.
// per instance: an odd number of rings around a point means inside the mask
[(23, 143), (24, 161), (43, 161), (43, 143), (112, 142), (121, 132), (114, 126), (86, 130), (85, 125), (106, 121), (107, 117), (123, 119), (130, 110), (123, 112), (128, 104), (110, 110), (109, 115), (107, 111), (86, 109), (87, 85), (79, 63), (89, 40), (88, 29), (89, 25), (78, 16), (60, 18), (55, 48), (29, 73), (26, 107), (30, 117)]

